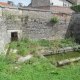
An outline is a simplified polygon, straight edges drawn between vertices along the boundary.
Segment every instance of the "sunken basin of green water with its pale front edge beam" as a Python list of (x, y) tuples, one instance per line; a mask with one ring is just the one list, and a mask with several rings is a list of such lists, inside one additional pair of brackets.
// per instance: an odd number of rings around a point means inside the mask
[(63, 66), (71, 62), (80, 61), (80, 52), (67, 52), (45, 56), (53, 65)]

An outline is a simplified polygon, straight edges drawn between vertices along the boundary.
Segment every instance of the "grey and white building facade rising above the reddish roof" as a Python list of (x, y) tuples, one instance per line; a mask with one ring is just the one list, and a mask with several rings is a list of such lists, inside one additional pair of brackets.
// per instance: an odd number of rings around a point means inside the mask
[(72, 6), (73, 3), (67, 0), (32, 0), (32, 7), (39, 6)]

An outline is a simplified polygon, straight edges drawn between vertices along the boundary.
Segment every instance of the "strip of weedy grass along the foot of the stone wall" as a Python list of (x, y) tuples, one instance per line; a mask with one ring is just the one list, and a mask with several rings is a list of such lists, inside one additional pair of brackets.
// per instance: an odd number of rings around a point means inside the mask
[(51, 50), (56, 50), (64, 47), (76, 47), (77, 45), (73, 38), (39, 41), (30, 41), (27, 38), (22, 38), (19, 42), (12, 42), (10, 48), (18, 49), (18, 54), (25, 56), (26, 54), (32, 53), (38, 47), (48, 47)]

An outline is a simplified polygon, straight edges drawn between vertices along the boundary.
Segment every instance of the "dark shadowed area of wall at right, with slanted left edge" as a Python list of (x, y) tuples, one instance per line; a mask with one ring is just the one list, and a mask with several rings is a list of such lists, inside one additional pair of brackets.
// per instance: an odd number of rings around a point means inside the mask
[(74, 13), (71, 16), (70, 23), (65, 38), (73, 37), (80, 44), (80, 13)]

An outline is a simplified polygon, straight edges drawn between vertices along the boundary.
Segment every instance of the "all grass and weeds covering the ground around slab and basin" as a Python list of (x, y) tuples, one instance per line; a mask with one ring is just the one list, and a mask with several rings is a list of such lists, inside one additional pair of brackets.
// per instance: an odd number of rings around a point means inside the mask
[(17, 63), (17, 54), (0, 55), (0, 80), (80, 80), (80, 62), (57, 68), (36, 53), (38, 47), (56, 49), (76, 45), (73, 39), (30, 41), (23, 38), (19, 42), (12, 42), (10, 48), (17, 49), (19, 55), (32, 54), (33, 57)]

